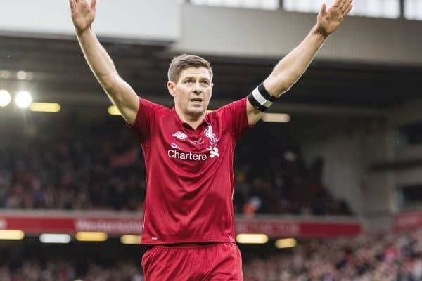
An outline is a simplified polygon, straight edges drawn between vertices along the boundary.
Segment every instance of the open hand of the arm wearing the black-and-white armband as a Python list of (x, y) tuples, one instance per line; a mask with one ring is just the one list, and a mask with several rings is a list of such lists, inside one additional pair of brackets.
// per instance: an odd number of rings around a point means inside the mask
[(326, 10), (323, 4), (318, 14), (318, 29), (324, 34), (333, 33), (341, 25), (347, 13), (352, 10), (353, 0), (335, 0), (333, 6)]

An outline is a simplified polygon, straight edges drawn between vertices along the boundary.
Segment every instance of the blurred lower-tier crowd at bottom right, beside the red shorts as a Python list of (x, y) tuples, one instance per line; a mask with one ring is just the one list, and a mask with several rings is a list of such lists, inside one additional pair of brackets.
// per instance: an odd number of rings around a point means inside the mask
[(290, 254), (250, 259), (245, 281), (422, 280), (422, 231), (312, 240)]

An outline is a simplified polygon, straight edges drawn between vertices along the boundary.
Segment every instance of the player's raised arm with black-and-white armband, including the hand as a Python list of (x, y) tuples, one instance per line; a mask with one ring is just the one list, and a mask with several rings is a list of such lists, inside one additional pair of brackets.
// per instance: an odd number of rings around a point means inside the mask
[[(263, 88), (267, 94), (275, 98), (279, 98), (283, 93), (286, 93), (298, 81), (302, 74), (305, 73), (309, 64), (314, 60), (316, 53), (321, 48), (328, 35), (335, 32), (341, 25), (347, 13), (352, 10), (353, 0), (335, 0), (333, 6), (328, 10), (323, 4), (321, 11), (318, 14), (317, 22), (312, 30), (307, 34), (307, 37), (296, 47), (290, 51), (282, 60), (277, 63), (274, 70), (269, 74), (269, 77), (264, 80)], [(260, 87), (260, 92), (265, 91)], [(255, 97), (257, 102), (248, 99), (247, 113), (249, 124), (255, 124), (264, 115), (257, 107), (264, 102), (262, 98), (266, 96), (265, 93), (257, 93), (255, 90)], [(269, 97), (269, 96), (267, 96)], [(269, 105), (274, 98), (269, 97), (269, 101), (265, 105)]]

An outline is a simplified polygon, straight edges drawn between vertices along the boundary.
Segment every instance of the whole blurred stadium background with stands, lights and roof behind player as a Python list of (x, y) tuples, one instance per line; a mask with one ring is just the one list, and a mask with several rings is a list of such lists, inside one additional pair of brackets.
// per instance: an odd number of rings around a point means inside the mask
[[(136, 92), (168, 106), (171, 58), (205, 56), (215, 109), (260, 84), (322, 2), (99, 0), (94, 30)], [(143, 280), (143, 158), (84, 62), (68, 1), (0, 3), (0, 281)], [(421, 20), (421, 0), (354, 0), (243, 137), (245, 280), (422, 280)]]

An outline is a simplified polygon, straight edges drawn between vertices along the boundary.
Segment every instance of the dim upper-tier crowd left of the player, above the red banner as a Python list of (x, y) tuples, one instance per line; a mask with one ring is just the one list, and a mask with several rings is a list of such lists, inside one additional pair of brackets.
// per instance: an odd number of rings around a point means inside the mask
[(0, 207), (141, 208), (143, 160), (134, 133), (120, 119), (31, 119), (2, 126), (9, 133), (0, 140)]

